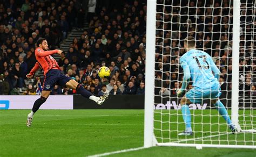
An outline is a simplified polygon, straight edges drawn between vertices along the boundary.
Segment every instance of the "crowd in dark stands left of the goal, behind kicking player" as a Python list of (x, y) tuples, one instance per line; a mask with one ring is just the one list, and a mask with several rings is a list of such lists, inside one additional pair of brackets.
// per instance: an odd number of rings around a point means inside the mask
[[(0, 94), (17, 94), (22, 88), (26, 88), (24, 95), (40, 94), (43, 81), (40, 75), (25, 85), (26, 74), (36, 62), (36, 41), (46, 38), (50, 49), (59, 48), (72, 28), (82, 28), (86, 13), (89, 28), (80, 39), (74, 38), (69, 51), (60, 56), (60, 69), (95, 95), (144, 94), (145, 1), (108, 3), (1, 1)], [(97, 75), (100, 66), (110, 68), (108, 79)], [(56, 85), (52, 94), (76, 94), (76, 91)]]

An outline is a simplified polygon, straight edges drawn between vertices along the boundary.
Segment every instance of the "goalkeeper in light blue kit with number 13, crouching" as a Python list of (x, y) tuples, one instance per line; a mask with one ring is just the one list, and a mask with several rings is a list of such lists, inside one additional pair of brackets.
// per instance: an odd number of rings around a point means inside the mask
[[(204, 51), (196, 49), (196, 41), (193, 37), (187, 37), (184, 40), (184, 48), (186, 53), (181, 56), (180, 64), (184, 71), (182, 87), (177, 91), (178, 97), (184, 94), (187, 87), (187, 81), (193, 81), (193, 87), (181, 98), (181, 112), (183, 120), (186, 124), (186, 130), (178, 135), (192, 135), (191, 113), (188, 105), (191, 103), (201, 103), (202, 98), (210, 98), (219, 114), (226, 120), (230, 130), (234, 133), (237, 131), (235, 125), (232, 124), (227, 110), (223, 103), (219, 101), (220, 70), (214, 64), (210, 55)], [(214, 75), (212, 74), (214, 73)]]

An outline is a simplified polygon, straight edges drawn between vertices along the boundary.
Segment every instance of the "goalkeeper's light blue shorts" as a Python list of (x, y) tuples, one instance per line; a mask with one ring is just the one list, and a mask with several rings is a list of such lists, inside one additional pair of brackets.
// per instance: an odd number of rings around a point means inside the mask
[(208, 89), (194, 87), (186, 93), (186, 98), (189, 99), (191, 103), (200, 104), (204, 98), (217, 99), (220, 95), (220, 85), (215, 85), (214, 87)]

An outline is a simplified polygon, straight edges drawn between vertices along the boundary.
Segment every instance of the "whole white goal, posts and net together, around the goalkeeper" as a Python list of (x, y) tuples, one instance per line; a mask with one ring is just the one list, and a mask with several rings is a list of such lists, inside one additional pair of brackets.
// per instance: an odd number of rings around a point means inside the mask
[[(255, 7), (255, 0), (147, 1), (145, 147), (256, 148)], [(211, 99), (202, 98), (189, 105), (193, 134), (178, 135), (185, 130), (176, 94), (184, 83), (179, 59), (188, 36), (221, 72), (219, 99), (238, 128), (235, 134)], [(187, 83), (186, 92), (193, 88)]]

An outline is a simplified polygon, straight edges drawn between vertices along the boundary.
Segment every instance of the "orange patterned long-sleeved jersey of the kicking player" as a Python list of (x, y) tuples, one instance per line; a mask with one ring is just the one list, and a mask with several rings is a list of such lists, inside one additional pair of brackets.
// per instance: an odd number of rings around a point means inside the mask
[(46, 75), (50, 69), (59, 69), (57, 61), (51, 56), (55, 53), (57, 53), (57, 49), (52, 51), (44, 51), (41, 47), (36, 48), (35, 56), (37, 62), (30, 73), (35, 73), (39, 67), (44, 70), (44, 75)]

